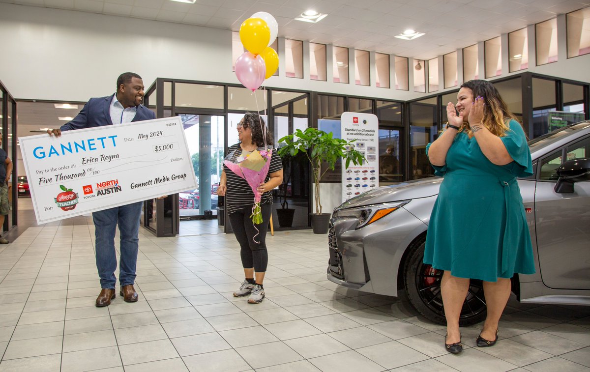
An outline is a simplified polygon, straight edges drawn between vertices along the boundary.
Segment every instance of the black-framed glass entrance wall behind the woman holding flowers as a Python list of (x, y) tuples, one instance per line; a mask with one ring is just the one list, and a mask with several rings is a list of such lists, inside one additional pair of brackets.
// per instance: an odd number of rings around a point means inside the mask
[[(225, 153), (238, 142), (237, 124), (244, 113), (258, 112), (277, 142), (286, 134), (307, 127), (308, 102), (307, 92), (259, 89), (253, 93), (241, 85), (158, 78), (148, 89), (145, 104), (155, 111), (156, 117), (181, 117), (198, 186), (163, 200), (146, 202), (143, 225), (158, 236), (230, 232), (229, 224), (225, 223), (224, 198), (217, 196), (217, 187)], [(291, 167), (290, 172), (299, 172), (291, 178), (300, 182), (306, 179), (302, 175), (308, 169)], [(283, 189), (285, 195), (280, 195)], [(308, 188), (293, 183), (272, 192), (274, 210), (287, 204), (297, 205), (300, 210), (297, 214), (301, 216), (296, 214), (288, 228), (309, 226)], [(287, 228), (276, 223), (276, 212), (273, 216), (274, 228)], [(185, 220), (211, 221), (181, 223)]]

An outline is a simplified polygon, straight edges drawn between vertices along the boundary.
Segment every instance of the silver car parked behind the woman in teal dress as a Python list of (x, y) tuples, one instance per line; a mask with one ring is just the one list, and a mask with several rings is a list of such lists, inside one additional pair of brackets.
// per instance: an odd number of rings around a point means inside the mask
[[(537, 272), (514, 275), (521, 302), (590, 305), (590, 121), (529, 141), (535, 175), (519, 179)], [(442, 271), (422, 263), (440, 177), (353, 197), (333, 212), (327, 278), (344, 287), (398, 296), (444, 324)], [(486, 317), (481, 281), (471, 280), (461, 325)]]

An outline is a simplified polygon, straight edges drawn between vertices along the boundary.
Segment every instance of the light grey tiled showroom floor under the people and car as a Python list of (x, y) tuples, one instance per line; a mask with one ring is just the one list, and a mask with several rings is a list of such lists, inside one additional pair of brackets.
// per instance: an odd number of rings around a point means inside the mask
[(407, 299), (326, 280), (327, 236), (268, 236), (262, 304), (233, 235), (155, 238), (140, 229), (139, 302), (100, 290), (91, 218), (31, 226), (0, 246), (1, 371), (590, 371), (590, 308), (511, 299), (500, 341), (446, 353), (444, 327)]

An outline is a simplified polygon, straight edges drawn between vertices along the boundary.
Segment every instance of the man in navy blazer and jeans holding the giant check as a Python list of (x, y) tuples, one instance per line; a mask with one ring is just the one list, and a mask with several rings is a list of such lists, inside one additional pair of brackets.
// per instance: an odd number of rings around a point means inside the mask
[[(111, 96), (90, 98), (74, 119), (60, 129), (47, 130), (49, 135), (61, 136), (62, 131), (91, 127), (120, 125), (132, 121), (156, 118), (152, 110), (142, 105), (143, 80), (134, 73), (123, 73), (117, 79), (117, 91)], [(143, 202), (136, 202), (92, 213), (96, 238), (96, 267), (101, 291), (96, 306), (110, 305), (115, 295), (117, 258), (114, 235), (117, 224), (120, 232), (119, 294), (127, 302), (137, 301), (135, 272), (139, 250), (139, 221)]]

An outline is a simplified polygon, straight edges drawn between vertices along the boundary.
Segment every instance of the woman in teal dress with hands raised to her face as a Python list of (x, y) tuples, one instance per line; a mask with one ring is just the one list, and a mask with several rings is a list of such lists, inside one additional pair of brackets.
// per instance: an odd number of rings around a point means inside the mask
[(428, 225), (424, 263), (444, 270), (445, 347), (460, 353), (459, 317), (469, 279), (483, 281), (487, 317), (476, 344), (487, 347), (498, 339), (510, 278), (535, 272), (516, 182), (533, 170), (525, 132), (493, 84), (461, 85), (447, 117), (446, 129), (426, 148), (435, 174), (444, 179)]

